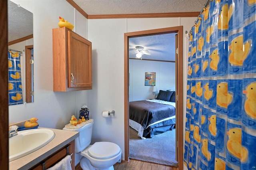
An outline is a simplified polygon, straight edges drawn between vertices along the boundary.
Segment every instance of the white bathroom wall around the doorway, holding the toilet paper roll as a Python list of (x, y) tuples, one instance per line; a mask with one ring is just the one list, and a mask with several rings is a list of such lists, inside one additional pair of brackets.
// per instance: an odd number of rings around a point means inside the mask
[[(90, 113), (94, 119), (93, 142), (115, 142), (121, 147), (124, 159), (124, 33), (183, 25), (185, 40), (185, 31), (190, 31), (195, 20), (196, 18), (88, 20), (88, 40), (92, 42), (93, 57), (93, 89), (89, 91)], [(188, 47), (184, 43), (184, 80), (187, 76), (187, 50)], [(102, 111), (112, 110), (116, 111), (114, 117), (102, 117)], [(185, 111), (184, 88), (184, 120)]]

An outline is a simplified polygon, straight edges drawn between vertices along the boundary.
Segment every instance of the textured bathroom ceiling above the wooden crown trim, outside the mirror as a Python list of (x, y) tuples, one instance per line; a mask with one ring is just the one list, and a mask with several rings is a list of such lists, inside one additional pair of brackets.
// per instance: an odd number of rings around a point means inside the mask
[(206, 0), (74, 0), (88, 15), (199, 12)]

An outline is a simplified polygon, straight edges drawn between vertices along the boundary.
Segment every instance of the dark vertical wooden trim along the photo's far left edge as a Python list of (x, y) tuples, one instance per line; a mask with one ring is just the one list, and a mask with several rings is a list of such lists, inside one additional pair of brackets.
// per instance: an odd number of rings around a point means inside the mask
[(7, 22), (7, 0), (0, 1), (0, 117), (5, 121), (0, 123), (0, 165), (2, 170), (9, 169), (9, 138), (8, 138), (8, 22)]

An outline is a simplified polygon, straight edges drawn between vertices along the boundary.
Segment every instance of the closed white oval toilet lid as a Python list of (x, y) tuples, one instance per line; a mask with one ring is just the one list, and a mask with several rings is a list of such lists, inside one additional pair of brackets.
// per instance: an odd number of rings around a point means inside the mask
[(88, 155), (96, 159), (108, 159), (118, 155), (120, 150), (120, 147), (112, 142), (95, 142), (88, 149)]

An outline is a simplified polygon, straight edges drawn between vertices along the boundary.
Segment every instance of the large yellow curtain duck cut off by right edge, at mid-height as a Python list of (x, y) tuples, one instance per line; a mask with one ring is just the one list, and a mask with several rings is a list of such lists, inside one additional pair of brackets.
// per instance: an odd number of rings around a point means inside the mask
[(243, 93), (246, 94), (247, 97), (244, 103), (245, 113), (252, 119), (256, 119), (256, 82), (248, 85)]

